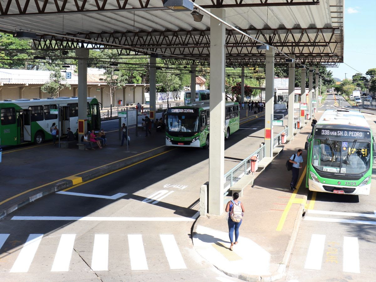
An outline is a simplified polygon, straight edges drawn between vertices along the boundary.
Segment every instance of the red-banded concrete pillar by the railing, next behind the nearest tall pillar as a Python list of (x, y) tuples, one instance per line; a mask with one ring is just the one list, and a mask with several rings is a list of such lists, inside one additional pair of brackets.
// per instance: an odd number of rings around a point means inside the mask
[(265, 51), (265, 156), (273, 157), (274, 49)]

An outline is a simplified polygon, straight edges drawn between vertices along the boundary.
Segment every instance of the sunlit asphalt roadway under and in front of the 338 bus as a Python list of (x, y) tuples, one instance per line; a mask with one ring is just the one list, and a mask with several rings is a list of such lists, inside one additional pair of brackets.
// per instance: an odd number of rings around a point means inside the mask
[[(319, 110), (333, 104), (334, 99), (328, 96)], [(344, 106), (353, 108), (346, 101)], [(375, 174), (374, 169), (373, 187)], [(306, 211), (287, 276), (282, 280), (374, 281), (376, 193), (352, 196), (310, 192), (308, 204), (311, 202), (313, 209)]]

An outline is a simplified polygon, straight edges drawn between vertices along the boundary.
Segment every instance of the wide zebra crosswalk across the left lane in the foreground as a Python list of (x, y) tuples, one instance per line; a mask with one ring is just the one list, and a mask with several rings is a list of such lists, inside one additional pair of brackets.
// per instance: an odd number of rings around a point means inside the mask
[[(10, 234), (0, 234), (0, 254), (4, 253), (5, 246), (7, 245), (7, 240), (9, 240), (10, 238), (9, 235)], [(92, 243), (89, 242), (90, 250), (85, 250), (85, 252), (88, 252), (90, 254), (92, 253), (92, 255), (90, 256), (91, 263), (89, 259), (87, 259), (86, 263), (93, 271), (108, 271), (111, 270), (109, 259), (111, 261), (111, 255), (114, 255), (120, 256), (120, 258), (124, 259), (124, 268), (129, 267), (127, 266), (129, 265), (126, 263), (127, 261), (130, 262), (131, 270), (149, 270), (148, 259), (153, 259), (153, 264), (155, 264), (155, 258), (152, 258), (152, 256), (155, 256), (156, 253), (153, 252), (152, 255), (147, 255), (146, 248), (149, 247), (150, 249), (150, 246), (148, 246), (145, 241), (149, 240), (153, 242), (153, 245), (160, 244), (161, 250), (164, 250), (164, 257), (162, 256), (162, 253), (157, 252), (158, 261), (160, 261), (161, 264), (168, 265), (170, 269), (186, 269), (187, 267), (183, 259), (183, 255), (179, 250), (179, 246), (175, 240), (174, 235), (159, 234), (158, 242), (156, 241), (157, 237), (155, 236), (156, 235), (153, 235), (153, 238), (148, 238), (147, 240), (145, 240), (145, 235), (142, 234), (124, 235), (121, 242), (123, 243), (124, 238), (127, 238), (128, 244), (125, 249), (127, 249), (128, 252), (125, 254), (121, 253), (119, 255), (111, 253), (109, 254), (109, 247), (111, 248), (111, 245), (109, 243), (112, 244), (113, 242), (113, 244), (119, 244), (118, 241), (110, 241), (111, 236), (109, 234), (94, 234), (94, 241)], [(14, 262), (9, 262), (9, 272), (25, 273), (29, 271), (30, 265), (33, 264), (35, 266), (38, 263), (41, 263), (43, 265), (51, 264), (50, 271), (52, 272), (64, 272), (72, 270), (73, 263), (71, 263), (71, 259), (73, 250), (75, 247), (77, 248), (77, 244), (80, 244), (80, 242), (77, 242), (76, 234), (61, 234), (58, 235), (58, 237), (59, 243), (57, 244), (57, 247), (55, 246), (56, 244), (49, 246), (49, 250), (53, 253), (54, 256), (53, 260), (40, 262), (39, 260), (35, 259), (38, 254), (38, 248), (40, 249), (39, 246), (42, 246), (43, 244), (50, 244), (50, 241), (47, 240), (47, 237), (44, 237), (44, 234), (29, 234), (26, 242), (22, 246), (20, 246), (19, 249), (16, 248), (17, 250), (14, 250)], [(92, 238), (92, 236), (90, 238)], [(112, 239), (114, 239), (114, 237), (112, 237)], [(85, 240), (85, 243), (87, 242), (88, 241)], [(11, 242), (9, 242), (9, 244), (11, 244)], [(115, 248), (115, 250), (117, 250), (117, 245), (112, 247), (113, 249)], [(82, 249), (82, 247), (80, 248)], [(9, 261), (9, 259), (7, 259), (7, 261)], [(11, 264), (12, 266), (10, 266)], [(4, 267), (5, 266), (2, 265), (3, 269)], [(163, 268), (162, 265), (159, 267)], [(118, 270), (117, 263), (116, 269)]]

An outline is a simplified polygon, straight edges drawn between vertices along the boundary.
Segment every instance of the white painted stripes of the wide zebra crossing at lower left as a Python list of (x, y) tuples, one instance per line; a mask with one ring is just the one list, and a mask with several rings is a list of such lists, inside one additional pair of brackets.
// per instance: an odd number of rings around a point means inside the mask
[[(28, 272), (30, 265), (33, 263), (36, 266), (37, 262), (33, 262), (36, 253), (38, 252), (39, 245), (43, 245), (45, 239), (43, 239), (44, 234), (29, 234), (26, 243), (22, 246), (21, 250), (18, 253), (17, 259), (15, 259), (10, 272)], [(4, 246), (6, 241), (8, 240), (10, 234), (0, 234), (0, 248)], [(91, 257), (91, 265), (90, 268), (93, 271), (108, 271), (111, 270), (111, 265), (109, 265), (110, 258), (112, 261), (114, 258), (111, 257), (111, 253), (109, 253), (109, 234), (94, 234), (94, 241), (92, 242), (92, 257)], [(129, 249), (129, 259), (130, 259), (130, 268), (132, 270), (149, 270), (148, 262), (147, 262), (147, 254), (144, 248), (144, 240), (146, 243), (151, 238), (146, 237), (143, 238), (144, 235), (141, 234), (128, 234), (128, 249)], [(155, 237), (152, 237), (153, 244), (155, 244)], [(165, 259), (160, 257), (159, 261), (161, 263), (165, 263), (170, 269), (186, 269), (187, 266), (184, 262), (182, 253), (180, 253), (179, 246), (175, 240), (173, 234), (160, 234), (160, 243), (163, 247), (165, 252)], [(47, 238), (46, 238), (47, 239)], [(48, 241), (48, 240), (47, 240)], [(74, 271), (74, 263), (72, 262), (72, 253), (74, 245), (79, 244), (80, 241), (76, 241), (76, 234), (62, 234), (60, 236), (59, 244), (56, 248), (56, 253), (52, 262), (51, 271)], [(87, 242), (87, 240), (83, 240)], [(44, 243), (45, 244), (45, 243)], [(113, 243), (117, 244), (117, 243)], [(149, 245), (150, 251), (150, 244)], [(85, 245), (86, 246), (86, 245)], [(44, 247), (44, 246), (43, 246)], [(77, 248), (77, 246), (75, 246)], [(52, 249), (52, 248), (51, 248)], [(152, 252), (155, 251), (152, 247)], [(17, 251), (18, 252), (18, 251)], [(17, 254), (15, 254), (17, 255)], [(117, 258), (117, 254), (112, 254), (115, 258)], [(37, 257), (37, 256), (36, 256)], [(124, 258), (124, 268), (126, 268), (125, 264), (127, 259)], [(150, 256), (149, 259), (152, 257)], [(10, 264), (12, 261), (9, 262)], [(48, 262), (43, 261), (42, 264), (47, 264)], [(4, 267), (4, 265), (2, 266)], [(118, 267), (116, 268), (118, 270)]]

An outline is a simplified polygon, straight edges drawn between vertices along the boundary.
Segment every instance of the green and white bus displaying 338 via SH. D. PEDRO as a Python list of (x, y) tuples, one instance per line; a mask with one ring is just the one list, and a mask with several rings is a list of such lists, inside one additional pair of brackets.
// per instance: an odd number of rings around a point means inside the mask
[(312, 130), (306, 187), (311, 191), (369, 195), (375, 143), (363, 114), (326, 110)]

